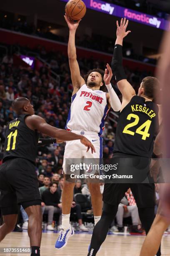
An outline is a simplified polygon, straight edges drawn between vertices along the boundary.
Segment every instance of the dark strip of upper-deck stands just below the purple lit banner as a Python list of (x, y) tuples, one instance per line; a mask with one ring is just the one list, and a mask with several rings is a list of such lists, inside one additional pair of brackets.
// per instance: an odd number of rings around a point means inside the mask
[[(60, 36), (52, 33), (50, 29), (47, 27), (42, 28), (35, 28), (34, 25), (28, 24), (26, 21), (12, 21), (7, 19), (0, 20), (0, 28), (9, 29), (12, 31), (17, 31), (21, 33), (26, 33), (34, 36), (39, 36), (42, 38), (47, 38), (54, 41), (60, 41), (63, 43), (68, 42), (68, 35), (67, 36)], [(93, 49), (96, 51), (102, 51), (105, 53), (112, 54), (114, 50), (115, 39), (107, 38), (102, 35), (97, 35), (92, 33), (92, 36), (84, 34), (83, 36), (76, 36), (76, 46), (81, 46), (88, 49)], [(128, 54), (127, 54), (128, 51)], [(135, 54), (133, 52), (132, 44), (124, 42), (123, 47), (123, 56), (130, 59), (136, 59), (138, 61), (147, 62), (150, 64), (156, 64), (156, 59), (146, 58), (145, 56)]]

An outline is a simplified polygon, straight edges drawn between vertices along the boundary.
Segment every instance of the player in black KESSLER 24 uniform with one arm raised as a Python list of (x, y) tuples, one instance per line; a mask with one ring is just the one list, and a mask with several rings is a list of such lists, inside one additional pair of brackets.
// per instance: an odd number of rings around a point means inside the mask
[[(127, 26), (128, 20), (126, 21), (125, 18), (124, 20), (121, 19), (120, 26), (117, 21), (117, 39), (112, 58), (112, 71), (115, 74), (117, 86), (122, 93), (122, 105), (117, 123), (113, 158), (118, 159), (118, 161), (122, 158), (121, 164), (124, 164), (125, 170), (128, 171), (130, 166), (134, 166), (134, 159), (142, 166), (143, 163), (145, 163), (145, 166), (149, 166), (154, 135), (158, 132), (159, 125), (158, 106), (153, 103), (155, 91), (159, 88), (159, 81), (155, 77), (145, 77), (140, 84), (138, 96), (127, 81), (122, 66), (123, 38), (130, 33), (130, 31), (126, 31)], [(142, 169), (142, 166), (138, 164), (136, 171)], [(149, 232), (155, 218), (155, 184), (105, 183), (102, 216), (93, 230), (88, 256), (95, 256), (101, 244), (105, 241), (108, 229), (117, 213), (120, 200), (129, 187), (135, 197), (141, 223), (146, 233)], [(159, 248), (157, 256), (160, 255)]]

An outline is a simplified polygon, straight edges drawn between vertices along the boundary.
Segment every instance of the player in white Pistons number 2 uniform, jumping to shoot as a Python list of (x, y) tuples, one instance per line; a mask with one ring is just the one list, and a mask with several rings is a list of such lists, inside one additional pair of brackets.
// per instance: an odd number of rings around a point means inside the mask
[[(76, 57), (75, 33), (80, 20), (73, 23), (67, 15), (64, 16), (69, 27), (68, 58), (73, 85), (72, 104), (68, 115), (66, 129), (76, 134), (84, 134), (95, 146), (94, 154), (86, 153), (85, 147), (80, 143), (66, 143), (63, 171), (66, 173), (65, 159), (101, 159), (102, 158), (102, 131), (104, 119), (110, 107), (115, 111), (120, 110), (120, 100), (110, 84), (112, 69), (107, 64), (105, 72), (101, 69), (90, 70), (85, 79), (81, 77), (80, 68)], [(102, 88), (107, 87), (108, 93)], [(67, 244), (67, 238), (74, 234), (70, 225), (70, 209), (73, 200), (74, 182), (65, 180), (62, 191), (62, 227), (55, 247), (60, 249)], [(100, 184), (88, 183), (95, 224), (100, 220), (102, 213), (102, 195)], [(81, 228), (81, 227), (80, 227)]]

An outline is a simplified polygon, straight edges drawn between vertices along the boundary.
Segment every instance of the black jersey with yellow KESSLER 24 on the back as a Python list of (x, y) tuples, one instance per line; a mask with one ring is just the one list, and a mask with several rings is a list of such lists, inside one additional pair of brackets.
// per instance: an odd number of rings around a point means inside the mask
[(133, 96), (120, 113), (113, 152), (150, 158), (158, 127), (158, 106)]

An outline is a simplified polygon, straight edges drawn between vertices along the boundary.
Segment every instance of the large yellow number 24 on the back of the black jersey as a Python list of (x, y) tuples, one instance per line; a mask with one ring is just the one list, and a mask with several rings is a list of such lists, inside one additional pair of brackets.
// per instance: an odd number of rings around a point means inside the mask
[[(128, 134), (134, 136), (135, 133), (133, 131), (128, 130), (128, 129), (139, 123), (139, 117), (138, 117), (138, 115), (135, 115), (135, 114), (129, 114), (127, 119), (130, 120), (131, 118), (135, 118), (135, 121), (126, 125), (122, 132), (123, 133), (128, 133)], [(135, 132), (142, 135), (142, 140), (146, 140), (146, 138), (150, 136), (150, 134), (148, 133), (149, 128), (150, 128), (150, 124), (151, 124), (151, 120), (147, 120), (145, 123), (143, 123), (142, 125), (140, 125), (140, 127), (138, 127), (136, 129)], [(145, 128), (145, 130), (142, 131), (142, 129), (144, 129), (144, 128)]]

